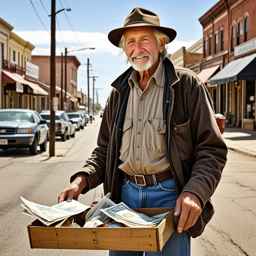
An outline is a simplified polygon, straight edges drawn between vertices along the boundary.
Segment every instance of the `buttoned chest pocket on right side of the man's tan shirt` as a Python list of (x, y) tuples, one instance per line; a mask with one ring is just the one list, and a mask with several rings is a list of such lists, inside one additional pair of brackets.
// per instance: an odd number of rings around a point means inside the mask
[(158, 153), (166, 152), (165, 144), (166, 125), (162, 119), (148, 119), (147, 126), (147, 147)]

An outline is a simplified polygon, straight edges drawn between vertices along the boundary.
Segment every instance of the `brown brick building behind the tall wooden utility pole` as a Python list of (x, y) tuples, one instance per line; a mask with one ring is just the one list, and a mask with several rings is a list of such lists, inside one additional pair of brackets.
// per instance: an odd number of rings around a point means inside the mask
[[(56, 86), (61, 88), (61, 56), (56, 56)], [(78, 107), (77, 99), (77, 68), (81, 64), (76, 56), (67, 56), (66, 58), (66, 93), (64, 88), (64, 56), (62, 59), (63, 72), (62, 72), (62, 97), (63, 97), (63, 110), (67, 112), (76, 111)], [(32, 56), (32, 63), (39, 66), (39, 80), (50, 86), (50, 56)], [(41, 84), (41, 83), (40, 83)], [(58, 109), (61, 109), (61, 90), (56, 89), (56, 97), (58, 97)], [(66, 107), (66, 108), (65, 108)]]

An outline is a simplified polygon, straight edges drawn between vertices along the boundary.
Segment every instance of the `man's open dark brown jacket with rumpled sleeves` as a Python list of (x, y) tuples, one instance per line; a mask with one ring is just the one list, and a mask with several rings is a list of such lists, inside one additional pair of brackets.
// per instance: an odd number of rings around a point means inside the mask
[[(214, 110), (203, 82), (189, 69), (174, 67), (165, 58), (165, 85), (162, 100), (166, 122), (166, 150), (178, 193), (189, 191), (201, 202), (202, 213), (188, 231), (192, 237), (200, 235), (214, 213), (210, 197), (220, 180), (226, 162), (227, 147), (221, 137)], [(120, 201), (124, 174), (118, 169), (122, 125), (130, 86), (128, 68), (113, 83), (107, 99), (100, 130), (98, 146), (85, 161), (83, 172), (89, 187), (87, 192), (103, 182), (104, 193)], [(71, 176), (72, 181), (79, 173)]]

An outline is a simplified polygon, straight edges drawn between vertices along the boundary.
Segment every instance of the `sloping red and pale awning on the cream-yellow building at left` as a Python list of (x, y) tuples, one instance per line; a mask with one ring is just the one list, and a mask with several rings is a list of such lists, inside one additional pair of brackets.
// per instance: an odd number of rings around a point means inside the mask
[(37, 83), (25, 80), (22, 75), (17, 73), (11, 73), (7, 70), (2, 70), (2, 72), (4, 74), (3, 82), (6, 82), (6, 83), (20, 82), (22, 84), (28, 85), (33, 90), (34, 94), (48, 95), (48, 92), (43, 88), (41, 88)]

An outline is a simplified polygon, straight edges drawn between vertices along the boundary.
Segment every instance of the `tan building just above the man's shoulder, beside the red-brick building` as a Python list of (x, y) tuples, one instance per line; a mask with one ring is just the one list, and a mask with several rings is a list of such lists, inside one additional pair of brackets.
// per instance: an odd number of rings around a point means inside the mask
[(200, 60), (202, 58), (202, 38), (189, 48), (182, 46), (172, 54), (167, 54), (173, 65), (187, 67), (196, 74), (200, 71)]

